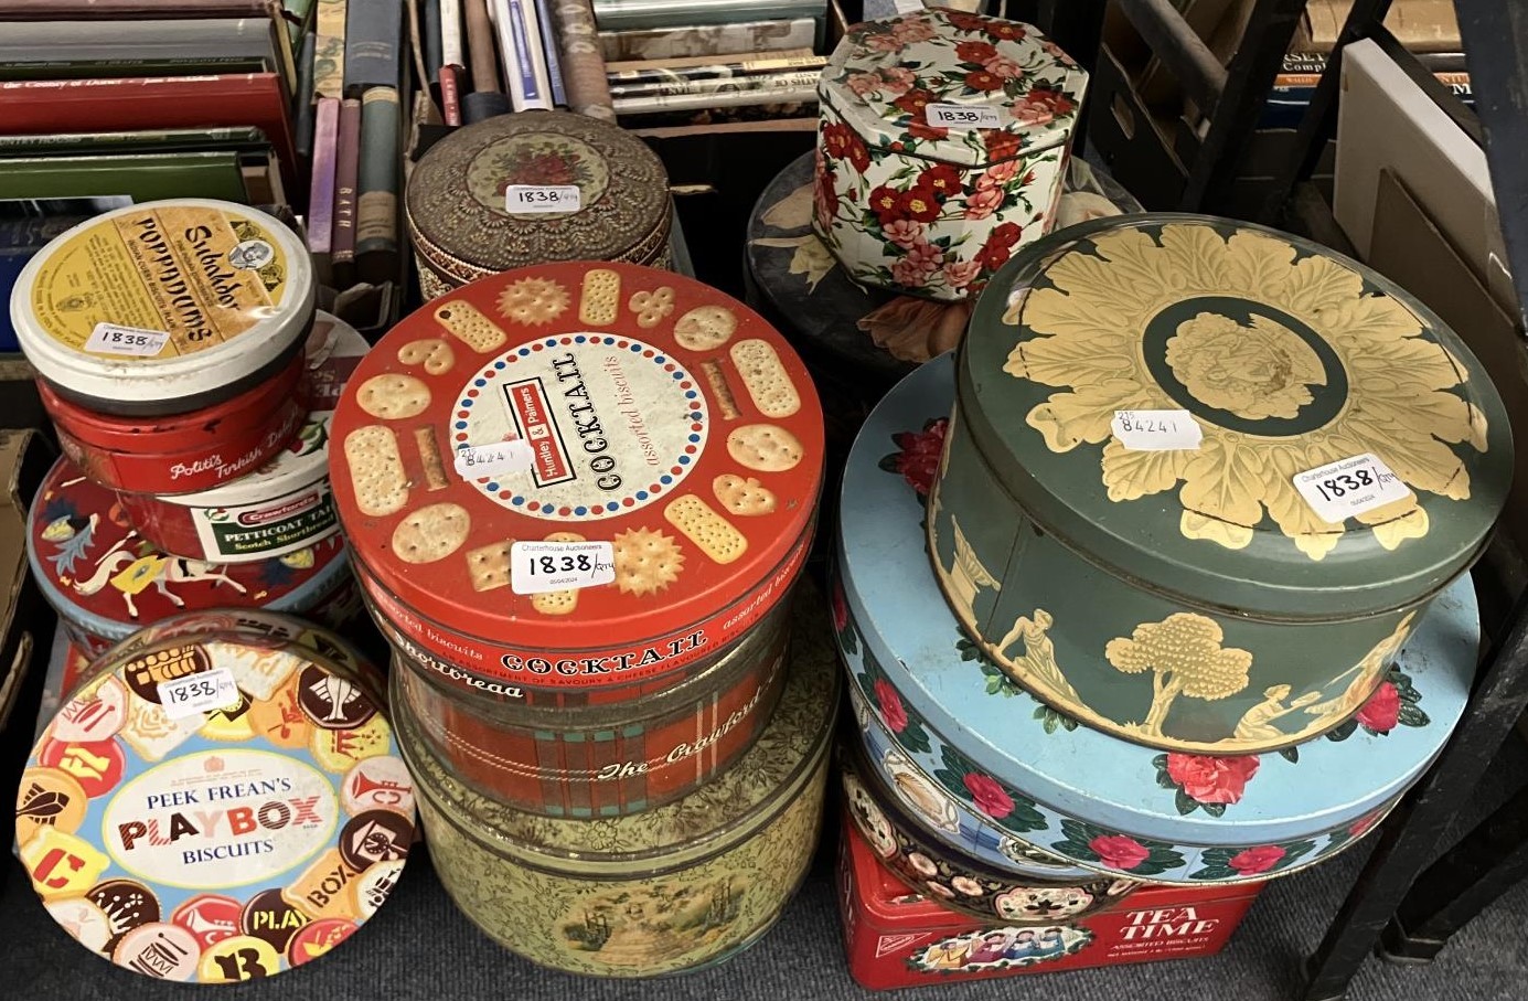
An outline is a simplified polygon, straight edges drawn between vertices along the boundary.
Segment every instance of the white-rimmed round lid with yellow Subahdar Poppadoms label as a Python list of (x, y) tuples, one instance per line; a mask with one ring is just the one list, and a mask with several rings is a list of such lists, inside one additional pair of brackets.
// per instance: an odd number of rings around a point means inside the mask
[(11, 322), (38, 374), (87, 407), (183, 413), (287, 358), (315, 296), (307, 248), (280, 220), (176, 199), (53, 238), (21, 269)]

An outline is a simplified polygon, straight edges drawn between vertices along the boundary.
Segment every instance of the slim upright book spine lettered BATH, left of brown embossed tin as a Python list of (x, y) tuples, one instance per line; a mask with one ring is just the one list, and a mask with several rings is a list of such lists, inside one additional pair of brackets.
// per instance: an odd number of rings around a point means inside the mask
[(397, 176), (402, 104), (393, 87), (361, 98), (361, 196), (356, 200), (356, 277), (371, 284), (396, 280)]

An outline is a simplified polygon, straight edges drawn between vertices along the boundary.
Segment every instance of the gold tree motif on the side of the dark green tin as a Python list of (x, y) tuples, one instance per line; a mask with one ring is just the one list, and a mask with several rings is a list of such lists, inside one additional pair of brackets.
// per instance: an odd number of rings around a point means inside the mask
[(1247, 688), (1251, 654), (1224, 648), (1215, 619), (1178, 611), (1161, 622), (1143, 622), (1129, 639), (1111, 639), (1103, 656), (1115, 671), (1152, 671), (1152, 700), (1140, 732), (1161, 737), (1163, 720), (1178, 695), (1215, 701)]

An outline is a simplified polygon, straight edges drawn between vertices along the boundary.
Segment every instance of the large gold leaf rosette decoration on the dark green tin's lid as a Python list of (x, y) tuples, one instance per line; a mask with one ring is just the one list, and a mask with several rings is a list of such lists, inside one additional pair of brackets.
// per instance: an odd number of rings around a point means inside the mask
[[(1375, 452), (1415, 492), (1470, 497), (1468, 469), (1452, 446), (1485, 451), (1487, 442), (1485, 417), (1456, 393), (1464, 367), (1404, 304), (1368, 292), (1346, 264), (1299, 257), (1287, 240), (1262, 232), (1227, 238), (1209, 225), (1169, 223), (1160, 237), (1135, 226), (1102, 232), (1091, 251), (1073, 248), (1044, 277), (1047, 286), (1021, 300), (1030, 335), (1008, 353), (1004, 371), (1057, 387), (1027, 422), (1053, 452), (1102, 445), (1112, 501), (1178, 489), (1186, 538), (1242, 549), (1271, 518), (1299, 552), (1322, 559), (1348, 523), (1322, 520), (1294, 489), (1296, 474)], [(1284, 437), (1222, 428), (1213, 413), (1196, 413), (1204, 431), (1198, 451), (1125, 449), (1109, 432), (1115, 411), (1183, 407), (1152, 374), (1141, 332), (1196, 296), (1239, 301), (1251, 316), (1276, 313), (1316, 332), (1342, 365), (1352, 402), (1325, 423), (1313, 419), (1320, 426)], [(1190, 394), (1242, 419), (1306, 413), (1309, 387), (1326, 377), (1317, 374), (1313, 348), (1282, 322), (1254, 319), (1248, 327), (1201, 313), (1170, 341), (1166, 361)], [(1244, 353), (1235, 365), (1229, 345)], [(1415, 494), (1355, 518), (1387, 549), (1429, 529)]]

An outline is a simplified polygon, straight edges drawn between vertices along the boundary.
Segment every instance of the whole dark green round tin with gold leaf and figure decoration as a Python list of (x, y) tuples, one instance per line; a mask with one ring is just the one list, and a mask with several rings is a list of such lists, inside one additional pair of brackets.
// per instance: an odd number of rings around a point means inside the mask
[(1166, 750), (1349, 720), (1511, 480), (1500, 397), (1442, 321), (1227, 220), (1030, 248), (957, 371), (927, 518), (950, 608), (1047, 705)]

